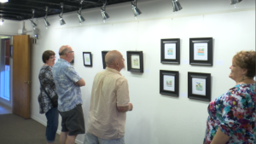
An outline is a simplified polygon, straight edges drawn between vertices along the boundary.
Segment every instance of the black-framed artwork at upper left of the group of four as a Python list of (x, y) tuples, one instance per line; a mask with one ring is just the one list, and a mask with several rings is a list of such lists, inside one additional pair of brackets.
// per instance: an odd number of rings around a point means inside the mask
[(161, 39), (161, 63), (180, 63), (180, 40), (179, 38)]

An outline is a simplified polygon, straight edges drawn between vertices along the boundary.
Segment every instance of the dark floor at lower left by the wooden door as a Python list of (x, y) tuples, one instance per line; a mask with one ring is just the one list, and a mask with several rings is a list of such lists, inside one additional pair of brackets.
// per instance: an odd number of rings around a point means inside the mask
[[(12, 114), (12, 108), (0, 103), (0, 144), (46, 144), (45, 126), (32, 118)], [(55, 135), (55, 144), (60, 135)]]

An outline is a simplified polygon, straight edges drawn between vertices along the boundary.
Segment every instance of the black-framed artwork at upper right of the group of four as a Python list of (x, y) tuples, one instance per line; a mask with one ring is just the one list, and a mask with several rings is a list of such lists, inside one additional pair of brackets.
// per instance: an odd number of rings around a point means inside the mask
[(189, 64), (212, 66), (212, 37), (189, 38)]

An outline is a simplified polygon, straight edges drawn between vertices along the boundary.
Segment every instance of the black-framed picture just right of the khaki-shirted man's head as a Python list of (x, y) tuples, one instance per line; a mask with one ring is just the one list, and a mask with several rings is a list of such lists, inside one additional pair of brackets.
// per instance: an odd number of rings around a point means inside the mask
[(143, 51), (127, 51), (129, 72), (143, 72)]

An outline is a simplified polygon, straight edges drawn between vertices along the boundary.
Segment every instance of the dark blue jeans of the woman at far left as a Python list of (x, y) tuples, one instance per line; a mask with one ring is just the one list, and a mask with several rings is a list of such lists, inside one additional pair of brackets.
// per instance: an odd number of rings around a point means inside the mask
[(46, 140), (51, 143), (55, 141), (55, 134), (59, 124), (59, 112), (57, 107), (52, 107), (48, 112), (45, 113), (47, 118), (47, 126), (45, 137)]

